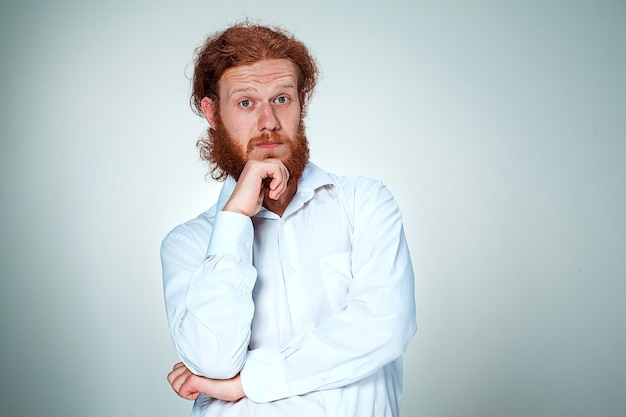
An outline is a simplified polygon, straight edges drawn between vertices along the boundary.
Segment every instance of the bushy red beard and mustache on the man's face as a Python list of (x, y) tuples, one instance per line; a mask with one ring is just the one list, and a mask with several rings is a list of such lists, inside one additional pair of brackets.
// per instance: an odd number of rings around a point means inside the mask
[[(250, 159), (254, 145), (268, 139), (282, 142), (288, 148), (289, 156), (282, 162), (289, 171), (289, 182), (297, 182), (302, 177), (304, 168), (309, 161), (309, 146), (302, 120), (300, 120), (295, 138), (274, 132), (263, 133), (251, 138), (248, 141), (247, 149), (244, 150), (226, 130), (218, 115), (215, 126), (208, 130), (208, 138), (200, 139), (197, 145), (200, 150), (200, 157), (211, 164), (211, 176), (214, 179), (224, 180), (227, 175), (230, 175), (235, 180), (239, 180), (246, 162)], [(273, 155), (269, 153), (267, 157), (271, 158)]]

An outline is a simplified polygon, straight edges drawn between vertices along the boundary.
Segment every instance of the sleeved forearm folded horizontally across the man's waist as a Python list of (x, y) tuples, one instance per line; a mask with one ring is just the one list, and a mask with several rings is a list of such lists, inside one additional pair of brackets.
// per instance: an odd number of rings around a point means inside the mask
[(410, 266), (404, 274), (387, 290), (355, 291), (343, 311), (315, 329), (250, 351), (241, 371), (248, 397), (266, 402), (342, 387), (402, 355), (416, 330)]

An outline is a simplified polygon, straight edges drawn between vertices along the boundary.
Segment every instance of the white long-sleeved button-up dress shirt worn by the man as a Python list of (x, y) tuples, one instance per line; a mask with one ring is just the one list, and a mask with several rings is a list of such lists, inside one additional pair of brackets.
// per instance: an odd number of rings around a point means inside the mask
[(415, 334), (400, 210), (380, 182), (309, 163), (282, 217), (215, 206), (161, 248), (176, 351), (193, 373), (241, 373), (246, 397), (192, 416), (397, 417)]

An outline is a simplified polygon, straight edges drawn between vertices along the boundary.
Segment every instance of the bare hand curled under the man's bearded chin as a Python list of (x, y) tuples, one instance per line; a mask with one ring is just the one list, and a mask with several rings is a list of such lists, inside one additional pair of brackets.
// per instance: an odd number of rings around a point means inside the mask
[(265, 197), (263, 180), (266, 178), (271, 178), (268, 197), (278, 200), (287, 190), (289, 171), (277, 158), (268, 158), (263, 161), (251, 159), (241, 172), (224, 210), (245, 214), (248, 217), (257, 214), (261, 210)]

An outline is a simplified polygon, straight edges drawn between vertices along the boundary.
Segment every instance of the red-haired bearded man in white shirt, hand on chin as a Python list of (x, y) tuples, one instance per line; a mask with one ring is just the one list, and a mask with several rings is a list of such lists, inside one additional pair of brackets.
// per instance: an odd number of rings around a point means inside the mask
[(172, 388), (192, 416), (398, 416), (416, 329), (400, 211), (379, 182), (309, 162), (317, 67), (277, 28), (243, 23), (197, 51), (192, 103), (217, 204), (161, 259)]

